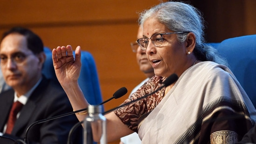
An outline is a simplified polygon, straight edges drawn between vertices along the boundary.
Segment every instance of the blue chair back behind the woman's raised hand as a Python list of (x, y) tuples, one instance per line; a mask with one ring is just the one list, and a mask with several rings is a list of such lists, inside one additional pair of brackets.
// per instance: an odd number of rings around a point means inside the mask
[[(52, 78), (55, 81), (58, 81), (53, 67), (52, 51), (45, 47), (44, 52), (46, 54), (46, 61), (44, 62), (42, 73), (47, 78)], [(89, 52), (82, 51), (81, 61), (82, 68), (78, 79), (80, 88), (88, 103), (93, 105), (99, 104), (102, 102), (102, 95), (94, 58)]]

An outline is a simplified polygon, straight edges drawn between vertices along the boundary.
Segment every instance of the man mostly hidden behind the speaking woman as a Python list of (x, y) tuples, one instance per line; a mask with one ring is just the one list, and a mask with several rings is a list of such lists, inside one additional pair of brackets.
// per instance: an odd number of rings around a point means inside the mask
[[(137, 34), (137, 39), (141, 38), (143, 36), (143, 29), (142, 27), (138, 28), (138, 34)], [(136, 59), (137, 63), (139, 66), (140, 71), (142, 71), (145, 76), (147, 77), (144, 81), (142, 81), (140, 84), (138, 84), (132, 91), (131, 94), (134, 93), (143, 83), (145, 83), (147, 80), (149, 80), (152, 76), (154, 76), (154, 69), (152, 68), (151, 64), (149, 63), (147, 56), (146, 56), (146, 51), (142, 50), (139, 46), (137, 41), (136, 42), (131, 42), (131, 49), (132, 52), (136, 53)], [(130, 96), (131, 96), (130, 94)], [(130, 97), (129, 96), (129, 97)], [(138, 134), (136, 132), (125, 136), (121, 137), (121, 142), (120, 144), (141, 144), (141, 140), (138, 137)]]

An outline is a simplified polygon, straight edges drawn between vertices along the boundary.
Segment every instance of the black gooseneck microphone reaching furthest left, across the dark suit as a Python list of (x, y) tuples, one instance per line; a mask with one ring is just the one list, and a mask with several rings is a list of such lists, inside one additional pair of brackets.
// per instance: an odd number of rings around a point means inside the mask
[[(113, 98), (118, 99), (118, 98), (124, 96), (126, 93), (127, 93), (127, 89), (126, 89), (125, 87), (122, 87), (122, 88), (118, 89), (118, 90), (113, 94), (113, 96), (112, 96), (110, 99), (108, 99), (108, 100), (106, 100), (106, 101), (104, 101), (104, 102), (102, 102), (102, 103), (100, 103), (100, 104), (98, 104), (98, 105), (102, 105), (102, 104), (104, 104), (104, 103), (107, 103), (108, 101), (110, 101), (110, 100), (113, 99)], [(69, 116), (69, 115), (72, 115), (72, 114), (75, 114), (75, 113), (77, 113), (77, 112), (81, 112), (81, 111), (84, 111), (84, 110), (87, 110), (87, 108), (84, 108), (84, 109), (81, 109), (81, 110), (72, 111), (72, 112), (65, 113), (65, 114), (62, 114), (62, 115), (59, 115), (59, 116), (55, 116), (55, 117), (45, 118), (45, 119), (42, 119), (42, 120), (39, 120), (39, 121), (36, 121), (36, 122), (30, 124), (30, 125), (28, 126), (27, 130), (26, 130), (25, 137), (24, 137), (24, 142), (25, 142), (25, 143), (28, 143), (28, 131), (29, 131), (34, 125), (39, 124), (39, 123), (48, 122), (48, 121), (50, 121), (50, 120), (54, 120), (54, 119), (57, 119), (57, 118), (66, 117), (66, 116)]]

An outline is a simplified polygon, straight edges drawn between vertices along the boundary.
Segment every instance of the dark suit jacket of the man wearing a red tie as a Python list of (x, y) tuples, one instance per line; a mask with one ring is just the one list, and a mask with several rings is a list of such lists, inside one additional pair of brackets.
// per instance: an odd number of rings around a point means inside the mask
[[(14, 90), (10, 89), (0, 94), (0, 130), (7, 123), (9, 111), (14, 100)], [(33, 91), (21, 114), (16, 120), (12, 136), (24, 139), (29, 125), (35, 121), (55, 117), (73, 111), (69, 99), (58, 82), (43, 77), (42, 82)], [(75, 116), (58, 118), (49, 122), (37, 124), (28, 132), (29, 144), (67, 144), (69, 130), (78, 123)], [(83, 141), (82, 128), (74, 133), (74, 144)], [(8, 137), (7, 134), (4, 136)]]

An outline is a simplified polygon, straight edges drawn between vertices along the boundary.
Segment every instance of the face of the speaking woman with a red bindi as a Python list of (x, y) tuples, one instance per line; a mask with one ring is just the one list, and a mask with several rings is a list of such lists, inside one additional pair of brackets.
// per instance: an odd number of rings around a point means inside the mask
[[(143, 25), (143, 37), (150, 38), (153, 34), (171, 33), (164, 24), (156, 19), (148, 19)], [(180, 43), (176, 34), (164, 34), (163, 44), (156, 47), (151, 40), (146, 48), (146, 55), (155, 75), (168, 77), (173, 73), (180, 76), (191, 65), (188, 62), (187, 42)]]

